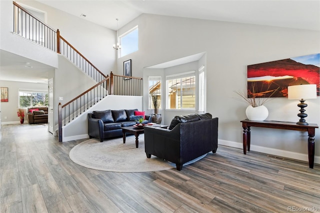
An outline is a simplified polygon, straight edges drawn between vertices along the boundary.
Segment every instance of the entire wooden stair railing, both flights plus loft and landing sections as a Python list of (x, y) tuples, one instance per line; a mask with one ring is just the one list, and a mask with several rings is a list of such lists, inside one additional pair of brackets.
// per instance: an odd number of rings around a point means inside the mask
[[(62, 142), (62, 126), (70, 124), (75, 118), (93, 107), (107, 95), (141, 96), (142, 78), (115, 75), (105, 76), (76, 48), (54, 30), (25, 8), (13, 1), (13, 32), (19, 36), (41, 45), (51, 51), (63, 55), (73, 63), (79, 71), (97, 82), (94, 86), (80, 93), (65, 104), (58, 104), (57, 130)], [(129, 78), (130, 80), (124, 80)]]

